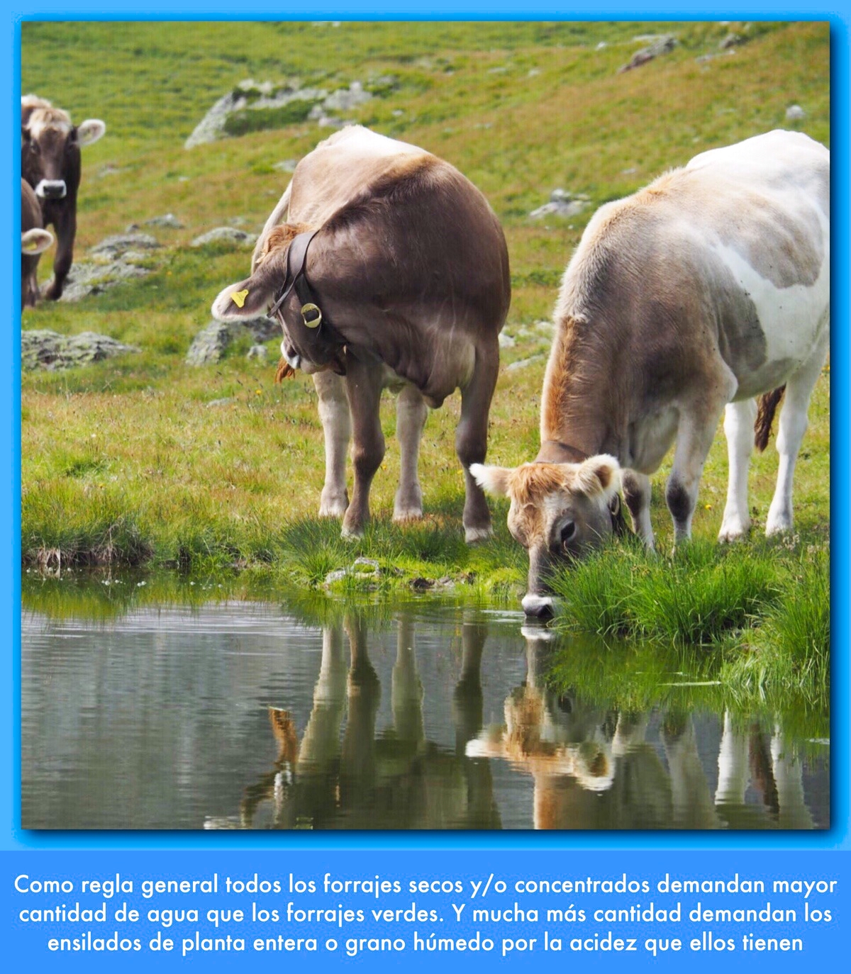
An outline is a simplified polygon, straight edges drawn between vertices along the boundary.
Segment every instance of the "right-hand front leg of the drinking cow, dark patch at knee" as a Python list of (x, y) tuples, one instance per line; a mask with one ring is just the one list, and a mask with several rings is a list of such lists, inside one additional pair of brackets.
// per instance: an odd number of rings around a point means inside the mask
[(691, 538), (691, 518), (697, 504), (703, 466), (724, 406), (736, 392), (736, 379), (729, 369), (707, 375), (703, 381), (707, 387), (705, 397), (680, 411), (674, 467), (665, 488), (665, 500), (674, 518), (675, 545)]

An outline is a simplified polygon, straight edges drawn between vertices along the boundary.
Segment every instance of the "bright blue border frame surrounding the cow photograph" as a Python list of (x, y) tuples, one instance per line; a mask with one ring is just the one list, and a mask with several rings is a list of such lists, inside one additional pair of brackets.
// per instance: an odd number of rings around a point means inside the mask
[[(20, 355), (19, 355), (19, 286), (17, 273), (19, 195), (15, 180), (19, 176), (19, 154), (14, 147), (14, 125), (18, 119), (20, 94), (20, 22), (22, 19), (234, 19), (233, 5), (220, 2), (186, 2), (180, 10), (174, 5), (149, 4), (135, 12), (105, 10), (98, 3), (74, 4), (42, 2), (35, 10), (10, 11), (12, 50), (8, 52), (11, 70), (9, 89), (12, 98), (0, 108), (0, 125), (10, 132), (11, 157), (3, 161), (2, 179), (11, 187), (4, 210), (11, 227), (2, 243), (5, 266), (16, 269), (9, 307), (12, 326), (9, 329), (7, 381), (0, 393), (0, 455), (9, 460), (10, 478), (0, 481), (0, 498), (12, 517), (0, 527), (0, 589), (5, 618), (8, 620), (7, 646), (11, 667), (2, 676), (4, 698), (11, 700), (8, 735), (11, 746), (0, 750), (0, 809), (9, 831), (0, 834), (0, 850), (59, 849), (186, 849), (206, 850), (310, 850), (310, 849), (807, 849), (851, 848), (849, 841), (849, 512), (844, 487), (849, 467), (849, 306), (848, 306), (848, 182), (849, 182), (849, 23), (848, 4), (832, 11), (789, 8), (770, 3), (750, 3), (739, 9), (682, 10), (676, 5), (655, 4), (637, 10), (627, 3), (610, 3), (604, 9), (591, 3), (573, 4), (565, 9), (553, 3), (538, 3), (520, 8), (510, 3), (468, 3), (458, 8), (447, 0), (429, 3), (415, 11), (398, 4), (368, 4), (349, 0), (345, 4), (311, 4), (298, 11), (299, 20), (310, 19), (808, 19), (825, 20), (831, 25), (832, 82), (832, 485), (837, 485), (832, 506), (832, 828), (824, 833), (615, 833), (579, 835), (565, 833), (187, 833), (187, 832), (29, 832), (19, 828), (19, 676), (20, 676)], [(253, 3), (240, 12), (239, 19), (282, 18), (280, 6)], [(7, 35), (9, 36), (9, 35)], [(9, 206), (9, 200), (13, 205)], [(7, 225), (8, 226), (8, 225)], [(15, 760), (13, 760), (13, 755)]]

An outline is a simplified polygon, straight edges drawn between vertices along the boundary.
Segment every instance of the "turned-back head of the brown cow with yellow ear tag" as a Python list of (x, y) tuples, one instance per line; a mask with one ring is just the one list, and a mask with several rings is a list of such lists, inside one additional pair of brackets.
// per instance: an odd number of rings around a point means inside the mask
[[(257, 254), (251, 277), (229, 284), (213, 301), (213, 318), (246, 322), (264, 316), (287, 284), (290, 244), (307, 229), (288, 223), (275, 227)], [(331, 369), (344, 374), (343, 350), (338, 337), (331, 337), (329, 329), (318, 324), (315, 313), (303, 313), (294, 288), (281, 306), (279, 320), (284, 330), (281, 354), (291, 368), (307, 373)]]

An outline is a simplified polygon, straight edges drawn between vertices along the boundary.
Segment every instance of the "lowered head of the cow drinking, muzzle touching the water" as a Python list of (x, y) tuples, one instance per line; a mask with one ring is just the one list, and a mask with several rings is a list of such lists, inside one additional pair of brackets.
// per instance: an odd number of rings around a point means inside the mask
[(547, 573), (598, 547), (621, 516), (618, 462), (600, 454), (581, 464), (472, 464), (470, 472), (489, 494), (511, 498), (508, 530), (529, 553), (523, 611), (528, 616), (552, 615)]

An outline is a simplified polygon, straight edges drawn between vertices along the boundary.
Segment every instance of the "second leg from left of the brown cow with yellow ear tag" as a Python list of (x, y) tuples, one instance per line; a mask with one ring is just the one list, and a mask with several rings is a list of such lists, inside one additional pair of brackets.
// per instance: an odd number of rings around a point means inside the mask
[(343, 538), (360, 538), (364, 534), (369, 519), (369, 487), (384, 459), (384, 433), (378, 415), (382, 377), (380, 363), (368, 364), (347, 356), (346, 396), (355, 433), (352, 447), (355, 487), (352, 503), (343, 518)]

